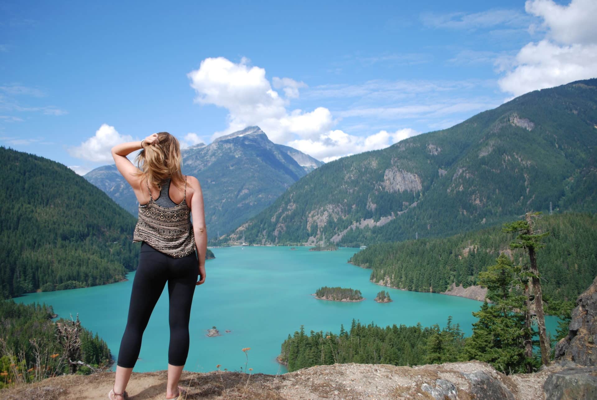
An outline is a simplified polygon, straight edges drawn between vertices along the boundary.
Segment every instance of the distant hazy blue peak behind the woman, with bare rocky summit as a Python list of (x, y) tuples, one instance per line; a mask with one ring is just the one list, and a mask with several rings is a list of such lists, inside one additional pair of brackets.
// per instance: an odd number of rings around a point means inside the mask
[[(271, 204), (291, 184), (321, 166), (303, 152), (278, 145), (257, 126), (181, 151), (183, 173), (201, 182), (210, 237), (227, 233)], [(139, 202), (114, 165), (85, 178), (137, 216)]]

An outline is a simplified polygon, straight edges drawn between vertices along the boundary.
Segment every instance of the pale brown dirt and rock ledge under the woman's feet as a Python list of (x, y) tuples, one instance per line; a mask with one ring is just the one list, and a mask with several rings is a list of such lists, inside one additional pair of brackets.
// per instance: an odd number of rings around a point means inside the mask
[[(551, 369), (551, 368), (550, 368)], [(320, 365), (284, 375), (242, 372), (183, 372), (180, 386), (188, 390), (185, 399), (432, 399), (421, 388), (435, 385), (439, 378), (450, 380), (457, 398), (472, 398), (464, 374), (484, 371), (511, 390), (516, 399), (543, 399), (542, 386), (551, 371), (518, 377), (501, 374), (483, 362), (469, 361), (417, 367), (393, 365)], [(135, 373), (127, 387), (130, 399), (165, 399), (167, 371)], [(35, 384), (4, 389), (2, 399), (63, 400), (107, 399), (114, 372), (93, 375), (64, 375)]]

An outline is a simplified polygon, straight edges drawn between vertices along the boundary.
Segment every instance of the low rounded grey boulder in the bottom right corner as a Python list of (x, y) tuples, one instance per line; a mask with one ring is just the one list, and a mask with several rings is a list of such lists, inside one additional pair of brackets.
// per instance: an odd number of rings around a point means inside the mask
[(597, 367), (554, 372), (543, 383), (543, 390), (546, 399), (597, 399)]

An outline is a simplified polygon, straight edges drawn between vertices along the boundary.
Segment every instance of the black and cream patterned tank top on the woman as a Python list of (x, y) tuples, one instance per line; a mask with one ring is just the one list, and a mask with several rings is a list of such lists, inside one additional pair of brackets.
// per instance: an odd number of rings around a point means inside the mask
[[(168, 196), (170, 199), (169, 188), (170, 185), (162, 185), (158, 199), (163, 196)], [(192, 254), (196, 244), (193, 225), (190, 222), (190, 208), (186, 203), (186, 175), (184, 175), (184, 199), (174, 207), (164, 207), (156, 203), (151, 196), (149, 184), (147, 184), (147, 191), (149, 191), (149, 203), (139, 204), (139, 220), (133, 233), (133, 243), (147, 242), (157, 251), (174, 258)]]

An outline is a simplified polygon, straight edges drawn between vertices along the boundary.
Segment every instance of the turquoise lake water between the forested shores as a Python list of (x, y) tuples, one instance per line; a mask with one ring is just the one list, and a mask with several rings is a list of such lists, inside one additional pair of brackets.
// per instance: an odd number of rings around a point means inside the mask
[[(307, 247), (233, 247), (213, 249), (216, 259), (206, 263), (207, 280), (197, 286), (190, 317), (190, 349), (185, 370), (206, 372), (240, 370), (245, 365), (253, 372), (286, 372), (276, 362), (282, 341), (298, 331), (340, 331), (352, 319), (377, 325), (416, 325), (438, 323), (447, 317), (459, 323), (466, 336), (475, 322), (473, 311), (480, 301), (435, 293), (407, 292), (384, 288), (369, 281), (370, 270), (348, 264), (358, 249), (340, 248), (333, 252), (310, 252)], [(60, 317), (79, 314), (82, 325), (103, 338), (114, 358), (127, 322), (128, 304), (134, 272), (128, 281), (57, 292), (28, 294), (19, 303), (46, 303)], [(339, 303), (316, 300), (311, 295), (321, 286), (359, 289), (366, 300)], [(373, 299), (381, 289), (390, 292), (392, 303), (378, 304)], [(557, 317), (546, 318), (547, 329), (555, 334)], [(207, 337), (216, 326), (222, 334)], [(225, 333), (228, 329), (231, 332)], [(156, 304), (147, 329), (135, 371), (167, 369), (168, 291)], [(115, 369), (113, 367), (112, 369)]]

